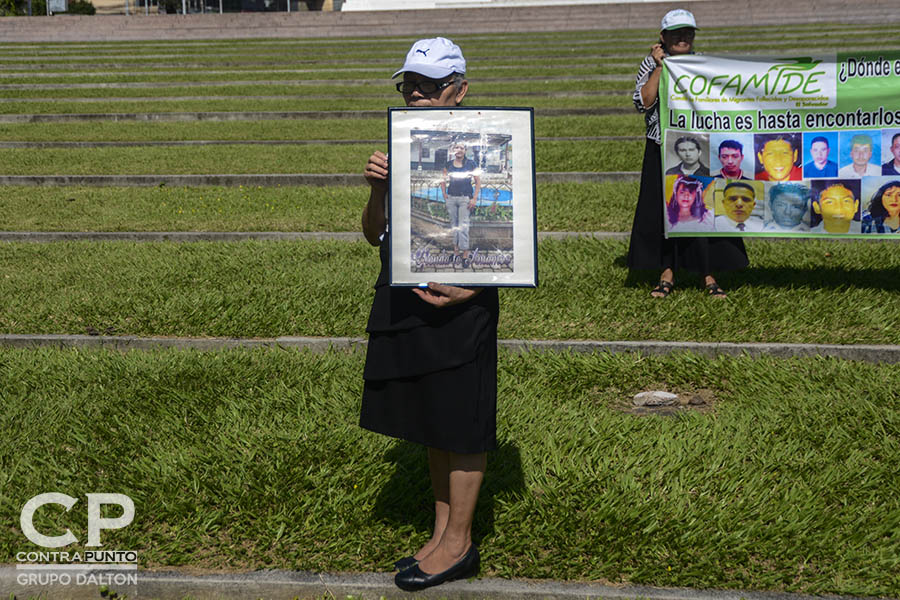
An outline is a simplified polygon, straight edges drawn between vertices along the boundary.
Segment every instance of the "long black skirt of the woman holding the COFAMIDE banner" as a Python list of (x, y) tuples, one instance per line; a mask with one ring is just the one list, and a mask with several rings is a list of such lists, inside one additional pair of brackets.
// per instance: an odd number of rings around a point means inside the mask
[(660, 161), (659, 144), (648, 139), (641, 168), (641, 191), (631, 226), (628, 268), (655, 271), (683, 269), (710, 275), (746, 267), (750, 261), (741, 238), (665, 238)]

